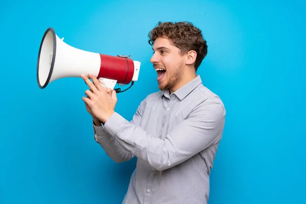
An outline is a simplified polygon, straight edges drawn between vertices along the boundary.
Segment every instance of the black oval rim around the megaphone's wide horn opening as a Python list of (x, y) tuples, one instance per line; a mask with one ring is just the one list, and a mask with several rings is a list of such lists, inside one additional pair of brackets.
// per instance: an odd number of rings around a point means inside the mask
[[(41, 54), (41, 48), (42, 48), (43, 41), (44, 41), (44, 39), (45, 39), (45, 37), (46, 37), (46, 35), (47, 35), (47, 33), (48, 33), (49, 31), (52, 33), (52, 36), (53, 36), (53, 56), (52, 56), (52, 61), (51, 61), (51, 66), (50, 66), (48, 78), (47, 78), (45, 84), (41, 85), (41, 84), (40, 84), (40, 81), (39, 81), (39, 61), (40, 61), (40, 54)], [(55, 56), (56, 56), (56, 35), (55, 35), (55, 31), (54, 31), (53, 28), (48, 28), (48, 29), (45, 31), (45, 33), (44, 33), (44, 35), (43, 35), (43, 37), (42, 37), (42, 40), (41, 40), (41, 42), (40, 42), (40, 47), (39, 47), (39, 52), (38, 52), (38, 59), (37, 59), (36, 77), (37, 77), (37, 84), (38, 84), (39, 88), (41, 88), (41, 89), (45, 88), (45, 87), (48, 85), (48, 83), (49, 83), (49, 81), (50, 81), (50, 79), (51, 79), (52, 72), (53, 72), (53, 68), (54, 68)]]

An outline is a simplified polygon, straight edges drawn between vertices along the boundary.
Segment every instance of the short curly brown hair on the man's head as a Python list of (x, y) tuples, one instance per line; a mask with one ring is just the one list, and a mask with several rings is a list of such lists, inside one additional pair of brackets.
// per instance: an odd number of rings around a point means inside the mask
[(148, 33), (148, 43), (153, 45), (158, 37), (167, 37), (170, 42), (186, 54), (189, 50), (197, 53), (195, 70), (200, 66), (207, 55), (207, 41), (203, 38), (201, 30), (191, 22), (159, 22), (154, 29)]

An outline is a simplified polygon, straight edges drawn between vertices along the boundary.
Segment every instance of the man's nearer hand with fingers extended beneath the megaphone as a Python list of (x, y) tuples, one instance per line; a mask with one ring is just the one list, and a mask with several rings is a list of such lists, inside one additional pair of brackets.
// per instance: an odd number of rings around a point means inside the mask
[(101, 122), (105, 123), (108, 118), (115, 112), (115, 106), (117, 103), (117, 95), (115, 90), (106, 89), (101, 86), (100, 82), (89, 74), (89, 79), (82, 74), (81, 77), (88, 85), (90, 90), (86, 90), (87, 97), (83, 97), (86, 104), (87, 111), (92, 115), (93, 119), (97, 118)]

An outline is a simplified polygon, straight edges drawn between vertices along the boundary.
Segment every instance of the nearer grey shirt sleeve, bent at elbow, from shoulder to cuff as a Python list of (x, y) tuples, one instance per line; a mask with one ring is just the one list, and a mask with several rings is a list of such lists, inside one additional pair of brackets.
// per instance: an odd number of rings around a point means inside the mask
[(212, 102), (196, 107), (165, 139), (153, 137), (116, 112), (105, 123), (105, 131), (137, 158), (147, 161), (157, 170), (164, 170), (218, 142), (224, 121), (224, 107)]

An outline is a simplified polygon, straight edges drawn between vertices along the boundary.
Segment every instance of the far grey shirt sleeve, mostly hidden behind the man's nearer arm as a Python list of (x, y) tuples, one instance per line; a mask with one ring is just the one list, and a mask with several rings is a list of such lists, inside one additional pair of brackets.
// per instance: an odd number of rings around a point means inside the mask
[[(142, 111), (144, 108), (145, 100), (141, 102), (137, 108), (133, 119), (130, 121), (132, 125), (139, 125), (142, 118)], [(134, 155), (132, 152), (124, 147), (118, 138), (112, 137), (107, 131), (105, 131), (103, 126), (96, 126), (93, 124), (94, 139), (101, 147), (105, 150), (106, 154), (112, 158), (115, 162), (120, 163), (127, 160), (131, 160)]]

